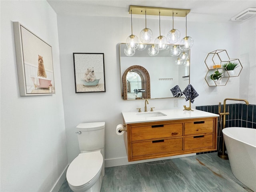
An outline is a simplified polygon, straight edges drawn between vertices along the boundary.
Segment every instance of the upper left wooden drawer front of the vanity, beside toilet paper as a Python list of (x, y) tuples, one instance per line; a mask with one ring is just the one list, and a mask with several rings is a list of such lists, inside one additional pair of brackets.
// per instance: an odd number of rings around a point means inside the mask
[(182, 123), (132, 127), (132, 141), (182, 136)]

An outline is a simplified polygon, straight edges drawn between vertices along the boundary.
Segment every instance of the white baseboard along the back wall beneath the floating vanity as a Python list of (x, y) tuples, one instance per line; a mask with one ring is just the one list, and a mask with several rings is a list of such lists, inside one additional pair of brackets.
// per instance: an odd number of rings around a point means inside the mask
[(147, 160), (140, 160), (140, 161), (132, 161), (132, 162), (128, 162), (128, 158), (126, 156), (126, 157), (120, 157), (120, 158), (105, 159), (105, 167), (115, 167), (115, 166), (121, 166), (121, 165), (129, 165), (129, 164), (136, 164), (136, 163), (174, 159), (174, 158), (188, 157), (188, 156), (194, 156), (194, 155), (196, 155), (196, 153), (169, 156), (169, 157), (163, 157), (163, 158), (155, 158), (155, 159), (147, 159)]

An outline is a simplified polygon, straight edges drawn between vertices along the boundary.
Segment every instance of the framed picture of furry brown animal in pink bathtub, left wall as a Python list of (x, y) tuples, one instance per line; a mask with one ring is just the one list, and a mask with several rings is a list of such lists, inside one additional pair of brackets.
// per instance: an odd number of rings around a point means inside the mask
[(13, 22), (20, 96), (55, 93), (52, 47), (19, 22)]

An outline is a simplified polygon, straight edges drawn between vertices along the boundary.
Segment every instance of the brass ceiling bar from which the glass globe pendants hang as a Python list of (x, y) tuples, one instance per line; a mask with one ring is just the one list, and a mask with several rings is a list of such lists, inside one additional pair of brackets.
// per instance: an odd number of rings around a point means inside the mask
[(135, 6), (130, 5), (129, 13), (144, 15), (145, 11), (147, 15), (160, 15), (161, 16), (172, 16), (174, 13), (175, 17), (186, 17), (186, 14), (190, 12), (190, 9), (174, 9), (174, 8), (162, 8), (162, 7), (146, 7), (146, 6)]

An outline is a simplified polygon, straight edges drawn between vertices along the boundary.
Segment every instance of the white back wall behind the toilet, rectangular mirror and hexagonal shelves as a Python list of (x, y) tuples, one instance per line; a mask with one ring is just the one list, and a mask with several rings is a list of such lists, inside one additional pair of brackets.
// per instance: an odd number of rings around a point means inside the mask
[[(158, 18), (148, 19), (147, 26), (158, 36)], [(161, 20), (161, 34), (170, 30), (170, 21)], [(139, 34), (144, 19), (133, 19), (133, 34)], [(176, 22), (185, 36), (185, 22)], [(106, 166), (128, 164), (122, 136), (115, 134), (122, 123), (122, 111), (135, 111), (144, 101), (123, 101), (120, 94), (119, 44), (130, 35), (130, 18), (58, 15), (60, 62), (64, 98), (68, 162), (79, 153), (76, 126), (81, 122), (106, 122)], [(190, 83), (199, 93), (192, 107), (213, 105), (224, 98), (239, 98), (240, 77), (230, 78), (226, 86), (209, 87), (204, 80), (207, 72), (204, 60), (208, 52), (226, 49), (230, 58), (240, 57), (240, 24), (189, 22), (188, 36), (194, 38), (191, 50)], [(154, 38), (155, 38), (154, 37)], [(106, 92), (75, 94), (73, 52), (104, 53)], [(179, 108), (188, 102), (179, 99)], [(158, 109), (174, 107), (174, 99), (150, 100), (149, 106)]]

